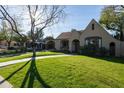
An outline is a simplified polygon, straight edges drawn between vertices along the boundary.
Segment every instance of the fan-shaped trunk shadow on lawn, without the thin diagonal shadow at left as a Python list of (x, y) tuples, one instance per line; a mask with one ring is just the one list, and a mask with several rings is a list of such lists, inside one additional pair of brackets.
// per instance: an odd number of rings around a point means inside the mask
[[(28, 88), (33, 88), (33, 84), (34, 84), (34, 81), (37, 80), (42, 87), (44, 88), (50, 88), (49, 85), (47, 85), (45, 83), (45, 81), (41, 78), (38, 70), (37, 70), (37, 67), (36, 67), (36, 53), (33, 55), (32, 57), (32, 60), (31, 60), (31, 64), (30, 64), (30, 67), (23, 79), (23, 82), (21, 84), (21, 88), (24, 88), (26, 85)], [(28, 82), (28, 84), (27, 84)]]

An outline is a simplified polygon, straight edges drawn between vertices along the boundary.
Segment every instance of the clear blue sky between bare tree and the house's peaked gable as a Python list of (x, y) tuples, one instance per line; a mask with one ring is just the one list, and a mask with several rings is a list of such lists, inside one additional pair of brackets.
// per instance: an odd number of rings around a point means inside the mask
[(45, 36), (52, 35), (56, 38), (60, 33), (70, 31), (72, 28), (77, 30), (85, 29), (88, 23), (94, 18), (99, 20), (100, 12), (104, 6), (101, 5), (82, 5), (65, 6), (67, 14), (63, 22), (52, 26), (44, 31)]

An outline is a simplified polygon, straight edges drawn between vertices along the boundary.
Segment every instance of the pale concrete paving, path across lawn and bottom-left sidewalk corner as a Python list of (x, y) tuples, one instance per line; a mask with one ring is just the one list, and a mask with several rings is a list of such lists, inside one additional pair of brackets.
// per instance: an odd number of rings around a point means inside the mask
[[(72, 56), (72, 55), (51, 55), (51, 56), (40, 56), (40, 57), (36, 57), (36, 59), (45, 59), (45, 58), (54, 58), (54, 57), (64, 57), (64, 56)], [(22, 62), (27, 62), (31, 60), (31, 58), (25, 58), (25, 59), (20, 59), (20, 60), (13, 60), (13, 61), (7, 61), (7, 62), (1, 62), (0, 63), (0, 68), (4, 67), (4, 66), (8, 66), (8, 65), (12, 65), (12, 64), (16, 64), (16, 63), (22, 63)], [(0, 76), (0, 82), (3, 81), (4, 78), (2, 76)], [(8, 82), (5, 81), (2, 84), (0, 84), (0, 88), (12, 88), (13, 86)]]

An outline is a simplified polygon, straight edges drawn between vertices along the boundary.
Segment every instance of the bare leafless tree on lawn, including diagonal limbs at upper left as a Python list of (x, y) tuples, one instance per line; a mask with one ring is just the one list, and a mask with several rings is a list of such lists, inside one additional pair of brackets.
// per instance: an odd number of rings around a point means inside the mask
[[(28, 11), (29, 15), (29, 26), (30, 26), (30, 33), (31, 33), (31, 40), (33, 42), (33, 53), (35, 53), (35, 42), (39, 35), (42, 33), (43, 30), (46, 28), (58, 23), (64, 15), (64, 7), (63, 6), (38, 6), (38, 5), (28, 5), (25, 7), (25, 10)], [(15, 21), (14, 17), (11, 16), (11, 13), (7, 11), (5, 6), (0, 6), (0, 12), (2, 18), (6, 20), (10, 26), (12, 31), (17, 33), (21, 39), (25, 35), (20, 33), (17, 27), (17, 22)], [(38, 29), (37, 29), (38, 28)]]

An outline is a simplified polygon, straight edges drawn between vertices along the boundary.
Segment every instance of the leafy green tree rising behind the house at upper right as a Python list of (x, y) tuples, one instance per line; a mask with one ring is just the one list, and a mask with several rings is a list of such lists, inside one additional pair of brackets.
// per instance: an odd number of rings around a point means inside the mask
[[(123, 6), (106, 6), (101, 12), (99, 22), (108, 30), (116, 31), (119, 40), (124, 41)], [(118, 36), (117, 36), (118, 37)]]

